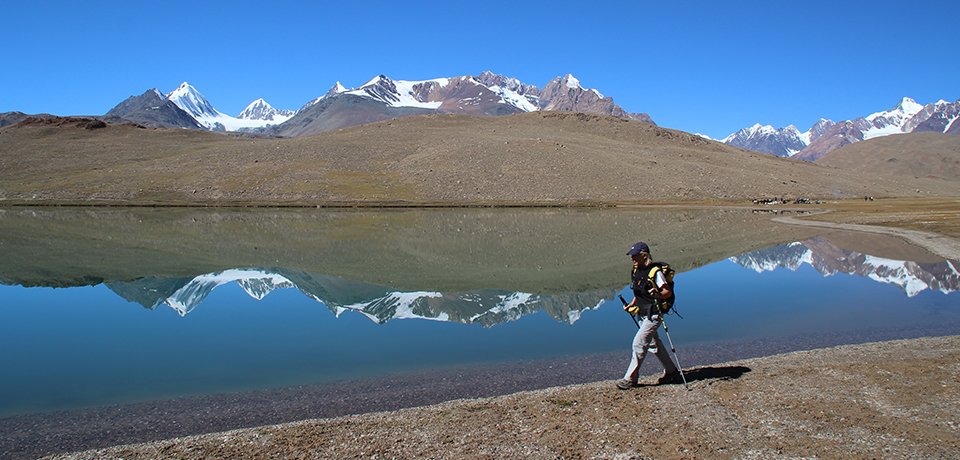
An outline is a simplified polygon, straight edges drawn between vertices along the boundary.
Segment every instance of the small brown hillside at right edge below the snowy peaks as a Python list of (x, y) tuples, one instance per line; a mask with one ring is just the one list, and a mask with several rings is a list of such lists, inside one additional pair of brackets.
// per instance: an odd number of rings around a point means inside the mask
[(878, 137), (830, 152), (817, 164), (870, 176), (960, 181), (960, 136), (912, 133)]

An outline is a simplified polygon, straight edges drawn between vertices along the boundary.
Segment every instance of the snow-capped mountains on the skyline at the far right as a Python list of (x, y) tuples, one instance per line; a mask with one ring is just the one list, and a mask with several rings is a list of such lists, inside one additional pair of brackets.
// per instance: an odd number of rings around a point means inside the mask
[(958, 112), (960, 100), (953, 103), (941, 100), (924, 106), (904, 97), (889, 110), (855, 120), (820, 119), (805, 132), (793, 125), (774, 128), (756, 124), (727, 136), (723, 142), (771, 155), (815, 161), (845, 145), (880, 136), (914, 131), (960, 134), (960, 124), (954, 123)]

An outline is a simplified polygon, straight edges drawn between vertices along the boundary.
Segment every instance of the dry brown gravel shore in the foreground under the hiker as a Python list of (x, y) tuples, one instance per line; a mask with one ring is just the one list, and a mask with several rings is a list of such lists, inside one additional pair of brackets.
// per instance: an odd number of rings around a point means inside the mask
[[(645, 379), (652, 382), (652, 377)], [(53, 458), (956, 458), (960, 336), (844, 345), (612, 381)]]

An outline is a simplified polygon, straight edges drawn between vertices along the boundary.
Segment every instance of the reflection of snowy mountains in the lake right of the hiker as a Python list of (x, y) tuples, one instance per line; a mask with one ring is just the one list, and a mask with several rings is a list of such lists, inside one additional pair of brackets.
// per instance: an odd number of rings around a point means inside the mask
[(806, 264), (824, 276), (855, 274), (898, 286), (908, 297), (925, 290), (945, 294), (960, 290), (960, 271), (956, 262), (918, 263), (887, 259), (841, 249), (822, 238), (752, 251), (730, 260), (758, 273), (777, 268), (797, 270)]

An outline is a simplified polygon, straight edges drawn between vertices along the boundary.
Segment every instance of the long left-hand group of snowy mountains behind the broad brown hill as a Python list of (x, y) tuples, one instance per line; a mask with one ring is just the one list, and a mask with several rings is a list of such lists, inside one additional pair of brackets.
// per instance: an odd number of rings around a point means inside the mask
[(653, 123), (644, 113), (628, 113), (573, 75), (557, 77), (543, 89), (487, 71), (477, 76), (421, 81), (377, 75), (359, 88), (335, 83), (299, 110), (278, 110), (263, 99), (236, 117), (218, 111), (189, 83), (162, 94), (151, 89), (131, 96), (106, 114), (108, 121), (150, 127), (244, 131), (296, 137), (405, 115), (508, 115), (534, 111), (584, 112)]

